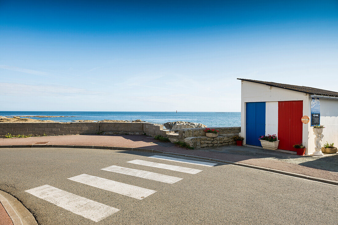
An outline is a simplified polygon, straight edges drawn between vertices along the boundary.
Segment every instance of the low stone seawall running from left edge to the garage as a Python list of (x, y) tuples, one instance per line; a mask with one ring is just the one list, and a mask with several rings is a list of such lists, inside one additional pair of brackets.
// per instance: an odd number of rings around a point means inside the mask
[(163, 125), (142, 122), (9, 122), (0, 123), (0, 137), (11, 135), (70, 135), (70, 134), (145, 134), (151, 137), (162, 135), (171, 142), (184, 141), (191, 147), (217, 147), (232, 145), (236, 142), (233, 137), (241, 131), (240, 127), (215, 128), (219, 131), (216, 138), (208, 138), (204, 128), (182, 129), (178, 133), (163, 130)]

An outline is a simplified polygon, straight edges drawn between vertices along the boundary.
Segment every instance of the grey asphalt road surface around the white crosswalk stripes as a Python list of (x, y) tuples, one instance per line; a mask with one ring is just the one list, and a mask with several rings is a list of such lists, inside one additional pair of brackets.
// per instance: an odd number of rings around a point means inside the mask
[[(155, 154), (99, 149), (3, 148), (0, 149), (0, 189), (18, 198), (41, 225), (337, 224), (336, 186), (235, 165), (206, 167), (148, 158), (153, 155)], [(202, 171), (189, 174), (127, 163), (131, 160)], [(101, 170), (112, 165), (183, 179), (168, 184)], [(68, 179), (80, 174), (156, 192), (143, 199), (136, 199)], [(94, 222), (25, 192), (43, 185), (53, 186), (120, 211)]]

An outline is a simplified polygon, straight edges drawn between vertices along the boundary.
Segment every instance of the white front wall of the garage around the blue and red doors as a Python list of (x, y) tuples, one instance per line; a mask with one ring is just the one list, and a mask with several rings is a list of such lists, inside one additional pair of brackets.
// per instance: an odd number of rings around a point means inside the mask
[[(265, 84), (258, 84), (248, 81), (241, 81), (241, 136), (245, 138), (245, 103), (246, 102), (279, 102), (279, 101), (303, 101), (303, 116), (309, 116), (310, 114), (310, 103), (309, 103), (309, 95), (303, 92), (292, 91), (288, 89), (271, 87)], [(270, 103), (267, 103), (270, 104)], [(275, 103), (271, 103), (272, 105)], [(278, 103), (277, 103), (278, 104)], [(273, 107), (271, 105), (271, 107)], [(278, 109), (278, 108), (277, 108)], [(275, 117), (275, 111), (270, 110), (267, 111), (266, 118), (269, 120), (269, 129), (275, 130), (278, 129), (278, 125), (273, 124), (272, 119)], [(271, 113), (271, 115), (270, 115)], [(277, 111), (278, 118), (278, 111)], [(300, 120), (301, 118), (299, 118)], [(278, 124), (278, 120), (276, 120)], [(312, 130), (312, 128), (311, 128)], [(277, 130), (278, 131), (278, 130)], [(274, 132), (273, 134), (277, 134), (278, 132)], [(313, 132), (312, 132), (313, 133)], [(271, 133), (270, 133), (271, 134)], [(308, 149), (308, 139), (309, 139), (309, 125), (303, 124), (303, 143)], [(338, 142), (337, 142), (338, 143)], [(243, 144), (246, 144), (245, 139)]]

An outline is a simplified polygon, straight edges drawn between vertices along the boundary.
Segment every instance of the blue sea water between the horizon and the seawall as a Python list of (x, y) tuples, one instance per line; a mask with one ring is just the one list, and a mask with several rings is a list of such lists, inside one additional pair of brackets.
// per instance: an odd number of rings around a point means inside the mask
[[(163, 124), (173, 121), (202, 123), (209, 127), (240, 126), (240, 112), (72, 112), (72, 111), (0, 111), (1, 116), (30, 116), (32, 119), (70, 122), (72, 120), (136, 120)], [(34, 117), (71, 116), (71, 117)]]

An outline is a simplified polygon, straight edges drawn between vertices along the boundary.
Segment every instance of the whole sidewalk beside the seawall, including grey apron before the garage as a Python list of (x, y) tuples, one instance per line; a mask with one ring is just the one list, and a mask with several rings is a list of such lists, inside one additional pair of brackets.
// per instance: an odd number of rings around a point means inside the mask
[[(0, 138), (0, 145), (33, 145), (48, 142), (48, 145), (111, 146), (159, 150), (196, 157), (213, 158), (247, 165), (281, 170), (338, 181), (338, 154), (324, 157), (297, 156), (245, 146), (223, 146), (218, 148), (185, 149), (173, 143), (164, 143), (144, 135), (65, 135), (30, 138)], [(137, 149), (136, 149), (137, 150)], [(141, 149), (140, 149), (141, 150)]]

